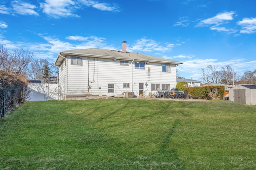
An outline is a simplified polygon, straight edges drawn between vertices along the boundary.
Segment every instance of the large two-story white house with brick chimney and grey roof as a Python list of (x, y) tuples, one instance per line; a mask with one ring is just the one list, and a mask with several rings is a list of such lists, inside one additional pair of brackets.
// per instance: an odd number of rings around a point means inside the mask
[(60, 51), (54, 63), (60, 68), (61, 100), (90, 95), (144, 94), (176, 86), (176, 66), (182, 64), (140, 53), (106, 49)]

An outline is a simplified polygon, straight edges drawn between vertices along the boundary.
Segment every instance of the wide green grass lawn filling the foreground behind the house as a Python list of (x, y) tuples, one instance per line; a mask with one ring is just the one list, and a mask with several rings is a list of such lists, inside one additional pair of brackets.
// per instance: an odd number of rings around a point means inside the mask
[(27, 102), (0, 121), (0, 169), (255, 170), (256, 106)]

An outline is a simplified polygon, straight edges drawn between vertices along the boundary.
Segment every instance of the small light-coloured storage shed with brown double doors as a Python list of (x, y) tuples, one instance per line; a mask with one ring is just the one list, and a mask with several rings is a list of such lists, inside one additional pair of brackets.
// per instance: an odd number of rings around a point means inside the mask
[(229, 90), (229, 100), (240, 103), (256, 105), (256, 86), (240, 84)]

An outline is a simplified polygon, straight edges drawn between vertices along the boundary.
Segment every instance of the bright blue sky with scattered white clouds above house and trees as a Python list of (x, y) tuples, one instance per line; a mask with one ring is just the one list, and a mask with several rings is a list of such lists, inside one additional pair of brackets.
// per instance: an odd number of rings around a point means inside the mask
[(181, 61), (199, 80), (209, 64), (256, 70), (255, 0), (1, 0), (0, 41), (54, 62), (63, 50), (102, 48)]

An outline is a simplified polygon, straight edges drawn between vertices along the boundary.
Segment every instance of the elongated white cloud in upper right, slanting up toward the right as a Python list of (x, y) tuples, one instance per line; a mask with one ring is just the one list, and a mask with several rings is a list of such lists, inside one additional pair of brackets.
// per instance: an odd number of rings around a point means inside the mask
[(208, 26), (208, 25), (214, 25), (214, 27), (218, 27), (219, 25), (222, 25), (222, 24), (226, 23), (227, 21), (233, 20), (234, 19), (233, 15), (235, 13), (236, 12), (234, 12), (234, 11), (219, 13), (212, 18), (208, 18), (208, 19), (200, 21), (200, 23), (198, 23), (198, 25), (196, 25), (196, 27), (204, 27), (204, 26)]

